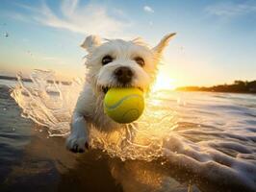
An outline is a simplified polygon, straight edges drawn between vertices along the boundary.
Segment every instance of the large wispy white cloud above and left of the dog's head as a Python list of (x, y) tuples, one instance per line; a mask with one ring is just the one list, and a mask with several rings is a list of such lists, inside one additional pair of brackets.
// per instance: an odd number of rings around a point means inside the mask
[(129, 26), (129, 22), (110, 16), (105, 7), (91, 3), (83, 6), (79, 0), (64, 0), (60, 6), (61, 14), (53, 12), (45, 3), (38, 8), (19, 6), (30, 11), (30, 17), (42, 25), (79, 34), (120, 36)]

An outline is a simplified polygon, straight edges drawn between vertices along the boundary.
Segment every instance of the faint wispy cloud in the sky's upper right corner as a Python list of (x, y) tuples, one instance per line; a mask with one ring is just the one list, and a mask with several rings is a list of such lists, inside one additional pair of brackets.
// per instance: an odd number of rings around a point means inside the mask
[(235, 4), (232, 2), (218, 3), (207, 7), (205, 9), (205, 12), (217, 16), (233, 17), (251, 12), (256, 12), (256, 4)]

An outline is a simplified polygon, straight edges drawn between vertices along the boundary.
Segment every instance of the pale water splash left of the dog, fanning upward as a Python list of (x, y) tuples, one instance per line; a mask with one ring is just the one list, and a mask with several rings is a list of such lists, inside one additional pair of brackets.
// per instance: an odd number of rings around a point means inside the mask
[(11, 94), (22, 108), (22, 116), (46, 127), (50, 136), (67, 135), (82, 81), (63, 84), (55, 80), (53, 71), (42, 70), (34, 70), (30, 78), (32, 83), (27, 83), (22, 80), (22, 74), (18, 74), (18, 84)]

